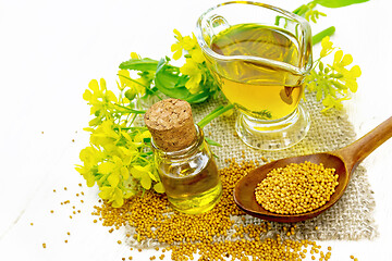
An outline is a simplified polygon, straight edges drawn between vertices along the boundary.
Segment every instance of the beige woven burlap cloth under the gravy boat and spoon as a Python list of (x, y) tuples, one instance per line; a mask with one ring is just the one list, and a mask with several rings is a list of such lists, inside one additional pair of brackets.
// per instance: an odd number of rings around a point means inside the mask
[[(210, 99), (203, 104), (193, 105), (195, 122), (201, 120), (219, 104), (224, 104), (221, 98)], [(215, 119), (205, 128), (205, 136), (218, 141), (222, 147), (213, 146), (212, 151), (219, 157), (217, 164), (219, 167), (226, 166), (225, 159), (236, 159), (236, 162), (244, 160), (261, 161), (261, 157), (269, 161), (281, 158), (308, 154), (322, 151), (331, 151), (350, 145), (356, 139), (353, 125), (347, 119), (347, 114), (342, 110), (329, 110), (321, 113), (323, 109), (321, 102), (316, 101), (314, 95), (306, 95), (303, 101), (311, 116), (311, 126), (307, 136), (296, 146), (280, 151), (260, 151), (247, 147), (235, 135), (235, 113), (231, 116), (220, 116)], [(331, 239), (371, 239), (377, 236), (377, 227), (373, 220), (375, 198), (372, 197), (370, 184), (367, 178), (366, 169), (359, 164), (352, 175), (351, 182), (343, 197), (329, 210), (315, 219), (296, 223), (295, 236), (297, 239), (331, 240)], [(249, 223), (258, 224), (264, 221), (246, 215), (245, 220), (233, 216), (234, 225), (246, 225)], [(284, 224), (271, 223), (271, 229), (266, 237), (281, 233)], [(286, 225), (285, 225), (286, 226)], [(318, 227), (318, 229), (316, 229)], [(127, 226), (128, 232), (134, 232), (134, 227)], [(235, 229), (228, 235), (234, 234)], [(284, 236), (284, 235), (282, 235)], [(293, 238), (293, 237), (291, 237)], [(223, 239), (223, 238), (222, 238)], [(226, 238), (225, 238), (226, 239)], [(220, 238), (217, 238), (220, 240)], [(130, 245), (155, 247), (159, 244), (155, 240), (137, 243), (130, 240)]]

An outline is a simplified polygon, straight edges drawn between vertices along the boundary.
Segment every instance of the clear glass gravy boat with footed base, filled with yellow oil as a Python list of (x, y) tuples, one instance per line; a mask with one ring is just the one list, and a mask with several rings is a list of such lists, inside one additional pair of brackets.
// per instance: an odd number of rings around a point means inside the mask
[(225, 2), (198, 18), (196, 38), (238, 111), (235, 129), (246, 145), (280, 150), (305, 137), (310, 117), (299, 102), (313, 65), (306, 20), (264, 3)]

